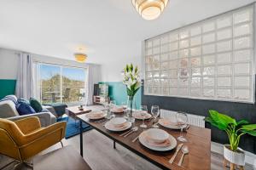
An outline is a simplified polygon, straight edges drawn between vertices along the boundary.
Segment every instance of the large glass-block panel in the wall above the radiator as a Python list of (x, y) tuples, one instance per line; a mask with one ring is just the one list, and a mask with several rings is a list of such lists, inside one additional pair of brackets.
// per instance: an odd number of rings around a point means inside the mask
[(144, 94), (253, 102), (253, 6), (145, 41)]

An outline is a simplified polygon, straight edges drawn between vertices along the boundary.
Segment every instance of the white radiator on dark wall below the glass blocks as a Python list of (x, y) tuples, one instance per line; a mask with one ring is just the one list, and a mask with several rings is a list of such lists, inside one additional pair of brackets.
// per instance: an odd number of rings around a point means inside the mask
[[(168, 110), (164, 110), (161, 109), (160, 110), (160, 118), (166, 118), (169, 117), (171, 118), (171, 120), (175, 120), (176, 122), (176, 114), (177, 111), (168, 111)], [(198, 116), (198, 115), (192, 115), (187, 113), (188, 115), (188, 122), (190, 125), (194, 125), (197, 127), (205, 127), (205, 116)]]

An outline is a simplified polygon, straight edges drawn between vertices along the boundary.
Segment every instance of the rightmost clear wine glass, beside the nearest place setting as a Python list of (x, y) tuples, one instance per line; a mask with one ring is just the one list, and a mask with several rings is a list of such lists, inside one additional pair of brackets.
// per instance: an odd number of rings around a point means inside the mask
[(176, 115), (177, 119), (177, 127), (180, 128), (180, 135), (177, 137), (177, 140), (180, 142), (187, 142), (188, 140), (183, 137), (183, 128), (187, 127), (188, 125), (188, 116), (186, 113), (178, 111)]

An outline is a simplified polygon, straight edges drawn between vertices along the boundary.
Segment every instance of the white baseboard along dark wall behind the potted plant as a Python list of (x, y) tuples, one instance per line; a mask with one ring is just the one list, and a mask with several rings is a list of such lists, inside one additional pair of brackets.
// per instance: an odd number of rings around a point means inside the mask
[[(223, 144), (218, 144), (216, 142), (211, 143), (211, 151), (223, 155)], [(245, 161), (247, 164), (256, 167), (256, 155), (251, 152), (245, 151)]]

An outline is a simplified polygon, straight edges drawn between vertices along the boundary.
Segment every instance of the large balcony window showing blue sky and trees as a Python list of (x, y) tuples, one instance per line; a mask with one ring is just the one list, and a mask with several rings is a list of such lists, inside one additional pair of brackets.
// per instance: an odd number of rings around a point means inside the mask
[(43, 104), (82, 104), (85, 99), (84, 68), (63, 65), (37, 65), (37, 97)]

